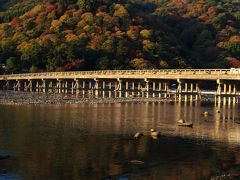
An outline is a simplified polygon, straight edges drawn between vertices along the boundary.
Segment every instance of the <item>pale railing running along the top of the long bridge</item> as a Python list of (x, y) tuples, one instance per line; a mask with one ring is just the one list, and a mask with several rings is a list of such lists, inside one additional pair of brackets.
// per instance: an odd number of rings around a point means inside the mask
[(80, 76), (80, 75), (226, 75), (239, 74), (240, 70), (234, 69), (152, 69), (152, 70), (105, 70), (105, 71), (71, 71), (71, 72), (43, 72), (1, 75), (0, 78), (7, 77), (55, 77), (55, 76)]

